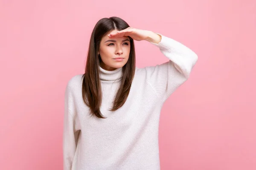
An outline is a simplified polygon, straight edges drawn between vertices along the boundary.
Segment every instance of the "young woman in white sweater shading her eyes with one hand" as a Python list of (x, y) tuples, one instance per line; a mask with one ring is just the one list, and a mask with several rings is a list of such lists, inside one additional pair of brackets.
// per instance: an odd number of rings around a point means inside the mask
[[(134, 40), (155, 45), (169, 62), (137, 68)], [(180, 42), (121, 18), (99, 20), (85, 73), (71, 78), (65, 92), (64, 170), (160, 170), (160, 110), (197, 59)]]

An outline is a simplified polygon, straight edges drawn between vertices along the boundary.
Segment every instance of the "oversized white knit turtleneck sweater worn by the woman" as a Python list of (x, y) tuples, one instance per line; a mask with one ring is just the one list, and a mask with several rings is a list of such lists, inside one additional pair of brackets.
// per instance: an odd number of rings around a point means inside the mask
[[(160, 170), (158, 125), (166, 99), (189, 77), (198, 57), (180, 42), (162, 35), (160, 48), (169, 62), (136, 68), (125, 104), (111, 112), (122, 68), (100, 68), (101, 112), (90, 116), (81, 91), (82, 75), (65, 92), (64, 170)], [(156, 56), (159, 57), (159, 56)]]

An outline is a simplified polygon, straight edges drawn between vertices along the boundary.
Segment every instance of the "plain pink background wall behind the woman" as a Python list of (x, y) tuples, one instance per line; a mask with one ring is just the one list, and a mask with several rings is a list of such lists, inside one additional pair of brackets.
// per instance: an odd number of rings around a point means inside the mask
[[(199, 57), (163, 106), (161, 170), (255, 170), (255, 0), (0, 0), (0, 169), (62, 169), (64, 89), (111, 16)], [(167, 61), (148, 42), (136, 52), (138, 67)]]

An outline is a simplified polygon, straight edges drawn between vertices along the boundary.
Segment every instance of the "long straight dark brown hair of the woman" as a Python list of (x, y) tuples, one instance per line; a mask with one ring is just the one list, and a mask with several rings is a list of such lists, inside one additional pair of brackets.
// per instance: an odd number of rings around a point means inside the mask
[[(99, 44), (102, 37), (109, 31), (121, 31), (128, 28), (129, 25), (119, 17), (102, 18), (99, 20), (91, 34), (89, 50), (87, 54), (87, 62), (85, 73), (83, 75), (82, 83), (82, 96), (84, 103), (90, 108), (90, 113), (98, 118), (105, 118), (101, 111), (100, 106), (102, 102), (101, 83), (99, 79), (99, 64), (101, 61), (98, 56)], [(135, 48), (134, 40), (130, 39), (130, 54), (127, 63), (122, 68), (122, 79), (119, 90), (116, 93), (113, 106), (110, 111), (116, 111), (124, 105), (131, 88), (131, 82), (135, 74)]]

